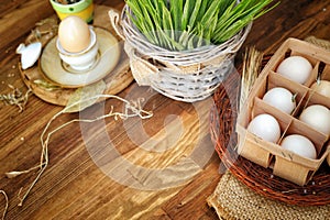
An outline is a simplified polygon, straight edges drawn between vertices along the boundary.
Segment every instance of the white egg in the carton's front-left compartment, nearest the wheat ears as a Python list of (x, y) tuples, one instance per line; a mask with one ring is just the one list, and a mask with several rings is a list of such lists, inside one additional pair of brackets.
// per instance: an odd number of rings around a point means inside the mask
[(273, 143), (276, 143), (280, 138), (280, 128), (277, 120), (267, 113), (255, 117), (249, 123), (248, 131)]

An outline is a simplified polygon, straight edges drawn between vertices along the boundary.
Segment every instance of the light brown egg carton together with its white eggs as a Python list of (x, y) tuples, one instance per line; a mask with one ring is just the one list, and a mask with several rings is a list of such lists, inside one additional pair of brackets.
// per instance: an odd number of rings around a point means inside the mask
[[(279, 66), (293, 57), (298, 59), (288, 65), (289, 74), (280, 73)], [(290, 65), (298, 67), (296, 75)], [(328, 88), (324, 84), (316, 87), (317, 79), (330, 81), (330, 52), (288, 38), (263, 68), (238, 116), (238, 153), (300, 186), (326, 158), (330, 164), (330, 98), (323, 91)], [(277, 94), (267, 99), (272, 90)], [(316, 110), (308, 113), (312, 108)]]

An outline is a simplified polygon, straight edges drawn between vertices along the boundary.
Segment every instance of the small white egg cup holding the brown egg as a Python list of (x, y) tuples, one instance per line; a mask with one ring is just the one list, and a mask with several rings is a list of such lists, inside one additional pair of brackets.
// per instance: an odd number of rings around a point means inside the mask
[(61, 59), (70, 66), (76, 72), (85, 72), (90, 69), (96, 63), (98, 55), (98, 42), (96, 33), (91, 26), (89, 26), (90, 32), (90, 43), (81, 52), (70, 53), (63, 48), (59, 38), (56, 40), (56, 48)]

